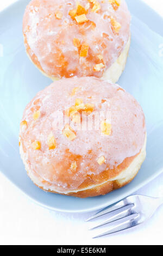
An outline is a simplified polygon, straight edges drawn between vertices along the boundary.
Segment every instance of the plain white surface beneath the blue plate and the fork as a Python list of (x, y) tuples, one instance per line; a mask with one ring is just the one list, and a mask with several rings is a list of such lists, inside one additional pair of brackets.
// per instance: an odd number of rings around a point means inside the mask
[[(143, 1), (163, 16), (162, 0)], [(0, 10), (13, 2), (1, 1)], [(163, 173), (137, 193), (163, 197)], [(43, 209), (0, 173), (1, 245), (163, 245), (163, 205), (147, 223), (96, 240), (91, 237), (97, 231), (88, 231), (91, 223), (84, 222), (89, 216)]]

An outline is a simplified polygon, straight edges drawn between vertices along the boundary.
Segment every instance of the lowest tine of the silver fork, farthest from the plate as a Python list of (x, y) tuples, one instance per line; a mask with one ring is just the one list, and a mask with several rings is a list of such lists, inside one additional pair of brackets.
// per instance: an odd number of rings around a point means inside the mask
[[(129, 228), (135, 227), (136, 225), (140, 224), (139, 222), (136, 221), (137, 217), (139, 217), (139, 214), (133, 214), (133, 215), (130, 215), (130, 217), (131, 218), (129, 220), (128, 220), (128, 217), (122, 218), (122, 220), (123, 220), (122, 223), (119, 223), (119, 224), (115, 225), (115, 227), (110, 228), (108, 231), (105, 231), (104, 233), (101, 233), (101, 234), (99, 234), (97, 236), (94, 236), (92, 238), (94, 239), (94, 238), (101, 237), (101, 236), (104, 236), (104, 235), (117, 233), (119, 231), (129, 229)], [(118, 222), (118, 221), (115, 221), (115, 222)]]

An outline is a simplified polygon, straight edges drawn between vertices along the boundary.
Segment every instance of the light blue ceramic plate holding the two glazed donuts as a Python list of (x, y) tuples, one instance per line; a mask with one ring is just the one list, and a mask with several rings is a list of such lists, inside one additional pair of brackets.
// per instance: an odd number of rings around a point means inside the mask
[(18, 130), (24, 107), (51, 84), (28, 59), (22, 36), (22, 17), (29, 1), (17, 1), (0, 13), (0, 169), (17, 187), (46, 208), (88, 212), (104, 208), (138, 190), (162, 172), (163, 157), (163, 21), (139, 0), (128, 0), (131, 47), (118, 82), (140, 102), (147, 122), (147, 158), (136, 178), (106, 196), (80, 199), (45, 193), (28, 178), (18, 149)]

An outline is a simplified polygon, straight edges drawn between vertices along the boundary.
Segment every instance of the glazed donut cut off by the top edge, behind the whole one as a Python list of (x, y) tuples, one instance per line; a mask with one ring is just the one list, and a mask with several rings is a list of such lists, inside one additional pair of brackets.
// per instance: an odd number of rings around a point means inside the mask
[(23, 35), (29, 58), (52, 80), (117, 82), (130, 47), (130, 13), (124, 0), (32, 0)]

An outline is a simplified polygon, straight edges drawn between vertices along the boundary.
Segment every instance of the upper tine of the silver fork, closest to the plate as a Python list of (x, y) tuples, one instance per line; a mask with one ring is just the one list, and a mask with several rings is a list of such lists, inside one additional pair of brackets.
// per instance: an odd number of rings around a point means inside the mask
[(86, 221), (91, 221), (91, 220), (93, 220), (93, 219), (95, 219), (97, 217), (103, 216), (105, 214), (109, 214), (109, 212), (112, 212), (112, 211), (115, 211), (117, 209), (120, 209), (120, 208), (122, 208), (123, 206), (126, 206), (126, 205), (129, 205), (128, 203), (126, 203), (126, 199), (121, 200), (120, 202), (110, 206), (109, 208), (107, 207), (107, 208), (97, 212), (97, 214), (91, 216)]

